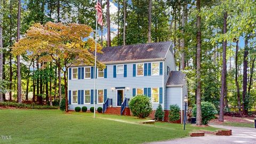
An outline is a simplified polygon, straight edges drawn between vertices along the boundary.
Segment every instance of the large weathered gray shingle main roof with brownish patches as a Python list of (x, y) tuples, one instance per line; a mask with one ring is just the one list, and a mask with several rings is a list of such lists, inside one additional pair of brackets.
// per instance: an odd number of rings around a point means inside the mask
[(105, 47), (97, 59), (101, 62), (131, 61), (165, 58), (171, 42)]

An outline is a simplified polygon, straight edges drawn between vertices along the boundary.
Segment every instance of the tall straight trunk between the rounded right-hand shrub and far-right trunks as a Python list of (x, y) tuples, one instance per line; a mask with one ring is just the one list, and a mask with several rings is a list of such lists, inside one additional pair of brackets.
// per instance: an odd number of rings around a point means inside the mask
[[(224, 12), (224, 20), (223, 20), (223, 34), (227, 33), (227, 12)], [(222, 72), (221, 72), (221, 92), (220, 92), (220, 114), (219, 121), (224, 121), (224, 97), (225, 97), (225, 89), (226, 89), (226, 72), (227, 72), (227, 40), (223, 41), (223, 51), (222, 51)]]

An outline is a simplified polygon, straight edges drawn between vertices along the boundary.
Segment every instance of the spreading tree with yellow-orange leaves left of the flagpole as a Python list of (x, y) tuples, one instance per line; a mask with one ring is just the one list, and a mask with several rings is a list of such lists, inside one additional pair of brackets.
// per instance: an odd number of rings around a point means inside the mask
[[(12, 49), (14, 55), (26, 54), (30, 59), (37, 58), (42, 62), (53, 61), (63, 71), (66, 112), (68, 112), (68, 68), (72, 65), (94, 65), (95, 41), (89, 38), (91, 33), (91, 27), (77, 23), (68, 25), (53, 22), (47, 22), (45, 25), (36, 23)], [(100, 44), (97, 45), (98, 53), (102, 53), (101, 49)], [(105, 65), (97, 61), (97, 67), (103, 69)]]

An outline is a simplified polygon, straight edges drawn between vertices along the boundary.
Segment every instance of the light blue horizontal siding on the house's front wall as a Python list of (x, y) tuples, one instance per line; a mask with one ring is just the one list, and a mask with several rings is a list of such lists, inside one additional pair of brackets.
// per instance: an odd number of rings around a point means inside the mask
[[(151, 61), (151, 62), (162, 62), (162, 61)], [(151, 63), (150, 62), (150, 63)], [(138, 62), (138, 63), (149, 63), (149, 62)], [(163, 76), (136, 76), (133, 77), (133, 64), (137, 63), (123, 63), (127, 65), (127, 77), (124, 77), (124, 74), (116, 74), (114, 78), (114, 66), (117, 65), (106, 65), (107, 66), (107, 78), (97, 78), (96, 84), (97, 90), (107, 90), (107, 98), (113, 99), (113, 107), (116, 107), (116, 89), (111, 90), (111, 87), (125, 87), (124, 97), (132, 98), (132, 90), (134, 88), (151, 88), (151, 87), (163, 87), (164, 94), (164, 85), (163, 85)], [(118, 64), (118, 65), (123, 65)], [(164, 72), (164, 71), (163, 71)], [(126, 88), (129, 87), (130, 90)], [(93, 90), (94, 89), (94, 79), (70, 79), (68, 81), (68, 90)], [(164, 95), (163, 95), (164, 97)], [(156, 109), (159, 103), (153, 103), (153, 109)], [(87, 108), (93, 107), (93, 104), (84, 104), (69, 105), (69, 109), (73, 110), (75, 107), (86, 106)], [(102, 107), (102, 104), (99, 104), (97, 101), (96, 108)]]

